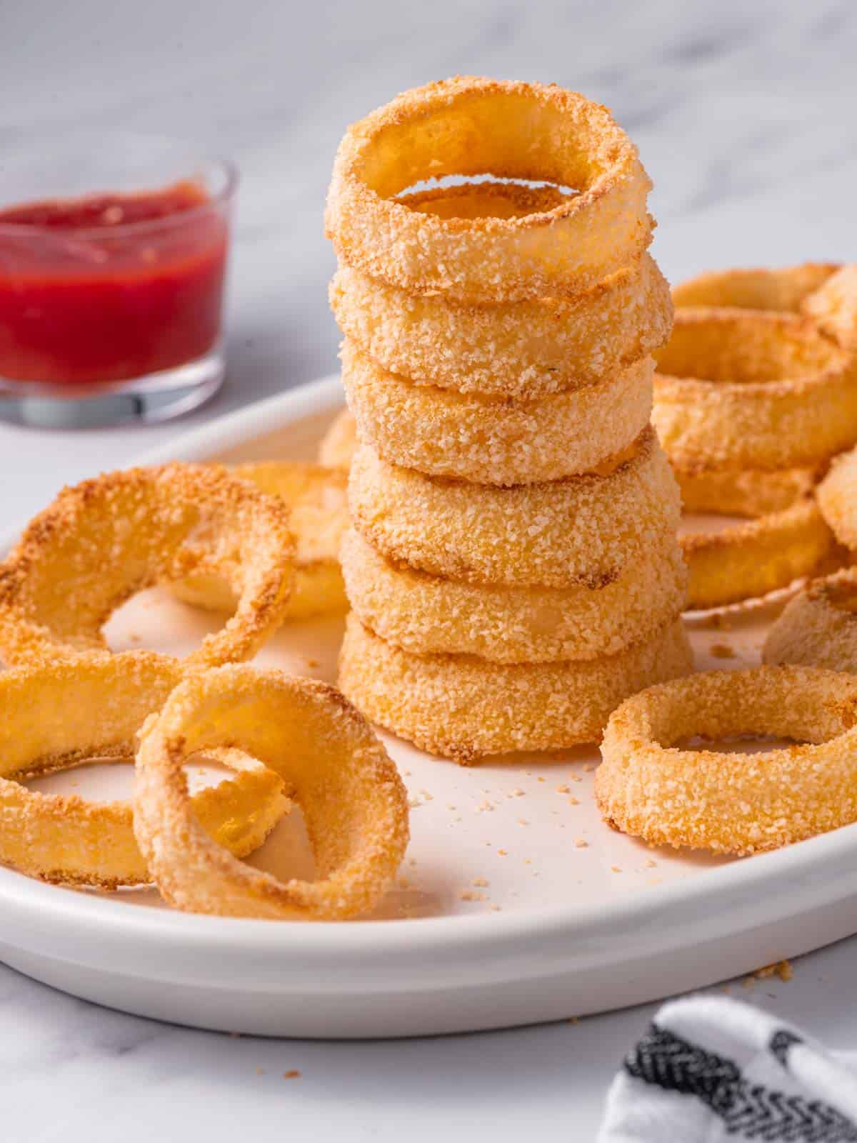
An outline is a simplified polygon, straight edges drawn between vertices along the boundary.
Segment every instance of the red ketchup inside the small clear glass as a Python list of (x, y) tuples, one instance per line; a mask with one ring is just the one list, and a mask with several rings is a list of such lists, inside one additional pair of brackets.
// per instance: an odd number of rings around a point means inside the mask
[(143, 377), (217, 341), (227, 219), (195, 183), (0, 210), (0, 376)]

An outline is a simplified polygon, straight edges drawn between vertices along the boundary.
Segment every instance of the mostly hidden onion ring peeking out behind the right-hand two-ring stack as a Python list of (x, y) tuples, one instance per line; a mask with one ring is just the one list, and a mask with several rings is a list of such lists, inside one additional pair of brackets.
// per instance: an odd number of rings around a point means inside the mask
[(711, 270), (673, 286), (673, 302), (676, 307), (728, 306), (799, 313), (838, 269), (832, 262), (804, 262), (778, 270)]

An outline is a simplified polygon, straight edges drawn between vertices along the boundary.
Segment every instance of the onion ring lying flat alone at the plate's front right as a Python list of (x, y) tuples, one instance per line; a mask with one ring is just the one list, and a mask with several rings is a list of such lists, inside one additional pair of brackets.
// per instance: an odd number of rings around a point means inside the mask
[[(713, 671), (651, 687), (610, 717), (595, 772), (607, 822), (650, 845), (751, 854), (857, 818), (857, 679), (811, 666)], [(728, 756), (702, 735), (794, 738)]]

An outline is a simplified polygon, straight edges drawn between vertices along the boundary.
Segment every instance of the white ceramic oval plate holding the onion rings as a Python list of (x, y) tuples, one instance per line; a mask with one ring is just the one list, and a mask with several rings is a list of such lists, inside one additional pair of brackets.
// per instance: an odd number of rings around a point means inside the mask
[[(144, 463), (311, 458), (336, 378), (189, 433)], [(698, 666), (758, 660), (764, 608), (691, 629)], [(211, 621), (160, 593), (111, 621), (114, 648), (182, 653)], [(259, 655), (335, 678), (341, 621), (285, 630)], [(711, 656), (729, 645), (735, 657)], [(194, 917), (154, 890), (72, 890), (0, 868), (0, 957), (75, 996), (161, 1020), (269, 1036), (414, 1036), (583, 1015), (750, 972), (857, 930), (857, 826), (718, 861), (615, 833), (592, 800), (594, 749), (465, 769), (387, 738), (413, 842), (377, 917), (349, 924)], [(724, 760), (724, 765), (728, 762)], [(101, 797), (130, 767), (41, 780)], [(305, 873), (299, 816), (254, 862)]]

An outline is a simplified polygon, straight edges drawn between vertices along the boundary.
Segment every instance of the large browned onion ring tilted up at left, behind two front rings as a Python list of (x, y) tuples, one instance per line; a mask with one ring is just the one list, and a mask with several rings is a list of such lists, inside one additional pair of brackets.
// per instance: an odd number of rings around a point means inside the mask
[(168, 464), (85, 480), (34, 517), (0, 565), (0, 654), (16, 665), (106, 654), (102, 628), (127, 599), (214, 572), (238, 607), (185, 665), (249, 658), (280, 625), (294, 554), (282, 501), (224, 469)]

